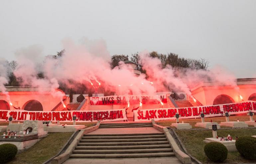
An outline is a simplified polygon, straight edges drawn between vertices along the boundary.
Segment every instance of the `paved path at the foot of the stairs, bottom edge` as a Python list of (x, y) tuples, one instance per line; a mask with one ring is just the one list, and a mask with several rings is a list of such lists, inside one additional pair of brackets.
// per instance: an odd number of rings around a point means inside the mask
[(175, 156), (174, 157), (159, 157), (159, 158), (123, 158), (123, 159), (83, 159), (71, 158), (63, 164), (182, 164)]

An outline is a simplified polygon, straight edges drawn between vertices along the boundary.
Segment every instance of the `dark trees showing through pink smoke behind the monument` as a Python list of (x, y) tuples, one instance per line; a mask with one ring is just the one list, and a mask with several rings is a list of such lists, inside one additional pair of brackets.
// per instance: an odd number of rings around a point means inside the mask
[[(48, 55), (46, 58), (56, 59), (58, 60), (64, 55), (65, 50), (61, 50), (60, 52), (57, 52), (56, 55)], [(190, 68), (190, 69), (203, 69), (207, 70), (209, 67), (209, 61), (206, 59), (190, 59), (190, 58), (183, 58), (180, 57), (178, 54), (174, 53), (168, 53), (168, 54), (159, 54), (156, 51), (152, 51), (149, 53), (150, 57), (152, 58), (158, 58), (161, 61), (162, 68), (165, 68), (167, 65), (171, 65), (172, 67), (176, 69), (180, 68)], [(119, 65), (120, 61), (132, 61), (136, 64), (137, 70), (141, 71), (142, 73), (146, 74), (146, 70), (143, 70), (141, 65), (141, 59), (139, 56), (139, 53), (134, 53), (129, 57), (128, 55), (113, 55), (111, 57), (110, 66), (113, 69), (114, 67)], [(19, 81), (22, 79), (17, 79), (14, 75), (14, 71), (18, 69), (19, 65), (17, 61), (6, 61), (8, 72), (9, 72), (9, 82), (8, 84), (5, 84), (6, 86), (20, 86)], [(43, 72), (39, 72), (37, 74), (38, 79), (45, 78)], [(72, 101), (72, 95), (73, 94), (89, 94), (91, 96), (94, 93), (94, 90), (90, 87), (87, 88), (85, 84), (76, 83), (72, 79), (68, 80), (70, 84), (73, 84), (73, 86), (76, 86), (76, 88), (70, 88), (67, 87), (65, 83), (60, 83), (60, 88), (63, 90), (66, 94), (69, 94), (70, 101)], [(79, 88), (79, 89), (78, 89)], [(102, 88), (100, 88), (102, 90)], [(111, 91), (104, 91), (105, 95), (113, 95), (114, 93)]]

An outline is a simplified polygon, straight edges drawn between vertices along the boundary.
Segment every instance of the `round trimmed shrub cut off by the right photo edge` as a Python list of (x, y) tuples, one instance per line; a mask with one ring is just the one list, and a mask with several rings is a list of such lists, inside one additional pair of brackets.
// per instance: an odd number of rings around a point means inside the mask
[(256, 138), (247, 136), (236, 140), (236, 149), (247, 159), (256, 159)]

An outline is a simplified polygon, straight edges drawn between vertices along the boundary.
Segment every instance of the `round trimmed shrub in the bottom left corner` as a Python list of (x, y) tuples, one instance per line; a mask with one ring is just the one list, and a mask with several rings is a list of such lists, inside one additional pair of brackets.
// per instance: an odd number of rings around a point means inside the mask
[(12, 160), (17, 154), (18, 148), (14, 144), (0, 145), (0, 163), (6, 163)]

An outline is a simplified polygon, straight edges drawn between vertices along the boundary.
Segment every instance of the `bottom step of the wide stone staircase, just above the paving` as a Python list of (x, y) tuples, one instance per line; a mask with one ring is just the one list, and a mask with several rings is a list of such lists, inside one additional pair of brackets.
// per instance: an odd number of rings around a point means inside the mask
[(70, 158), (147, 158), (147, 157), (166, 157), (174, 156), (174, 152), (157, 152), (157, 153), (124, 153), (124, 154), (71, 154)]

